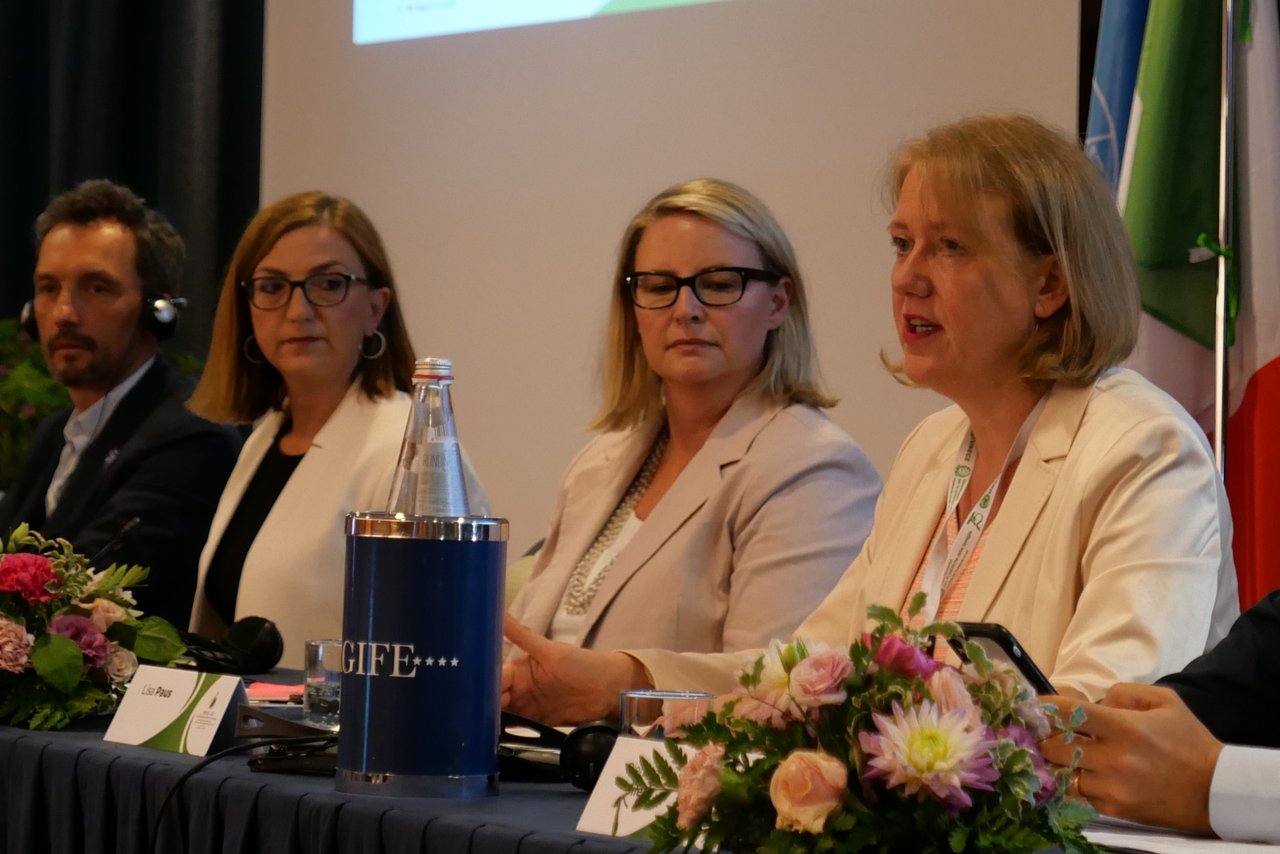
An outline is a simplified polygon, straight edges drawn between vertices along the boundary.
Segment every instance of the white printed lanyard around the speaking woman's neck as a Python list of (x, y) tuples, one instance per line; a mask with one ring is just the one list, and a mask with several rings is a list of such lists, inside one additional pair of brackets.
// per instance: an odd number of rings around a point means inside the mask
[(969, 560), (969, 556), (978, 548), (982, 529), (986, 526), (989, 516), (987, 508), (991, 507), (991, 502), (995, 501), (996, 493), (1000, 490), (1000, 481), (1004, 479), (1010, 461), (1021, 457), (1023, 451), (1027, 449), (1027, 440), (1030, 438), (1032, 428), (1036, 426), (1036, 421), (1044, 410), (1044, 401), (1047, 399), (1047, 397), (1042, 397), (1036, 403), (1036, 408), (1027, 416), (1027, 420), (1023, 421), (1023, 426), (1014, 438), (1014, 444), (1009, 448), (1009, 453), (1005, 455), (1005, 463), (1000, 467), (1000, 472), (996, 474), (996, 479), (987, 487), (987, 492), (982, 493), (978, 501), (974, 502), (973, 510), (969, 511), (969, 515), (960, 524), (960, 530), (956, 531), (956, 538), (951, 543), (951, 548), (947, 549), (947, 520), (956, 512), (960, 495), (969, 487), (969, 479), (973, 478), (973, 463), (978, 456), (978, 444), (973, 438), (973, 430), (969, 430), (969, 437), (960, 446), (960, 449), (956, 451), (951, 487), (947, 489), (947, 508), (938, 521), (938, 528), (933, 531), (933, 540), (929, 543), (929, 556), (924, 565), (924, 577), (920, 583), (920, 589), (928, 595), (924, 611), (920, 612), (924, 622), (933, 621), (938, 607), (942, 604), (942, 597), (951, 588), (952, 581), (960, 574), (960, 568)]

